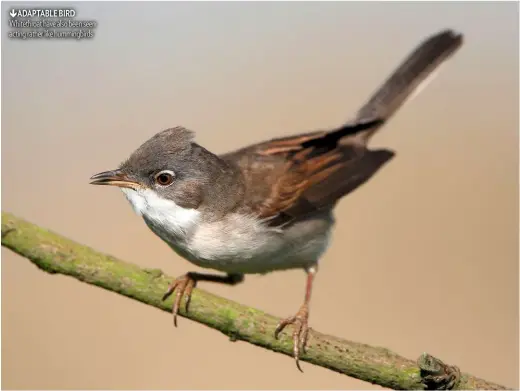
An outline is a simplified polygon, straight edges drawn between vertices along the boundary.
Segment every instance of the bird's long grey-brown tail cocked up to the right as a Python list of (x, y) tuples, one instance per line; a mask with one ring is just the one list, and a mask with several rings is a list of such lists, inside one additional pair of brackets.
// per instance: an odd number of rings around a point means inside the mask
[[(378, 121), (375, 126), (361, 132), (360, 141), (366, 143), (407, 99), (426, 87), (439, 66), (460, 48), (462, 42), (462, 34), (444, 30), (418, 45), (357, 112), (353, 120), (356, 124)], [(352, 121), (349, 124), (352, 126)]]

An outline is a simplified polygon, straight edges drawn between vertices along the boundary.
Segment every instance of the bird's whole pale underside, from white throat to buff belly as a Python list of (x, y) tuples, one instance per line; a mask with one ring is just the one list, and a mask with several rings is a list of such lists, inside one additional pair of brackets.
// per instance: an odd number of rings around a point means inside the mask
[(124, 189), (124, 193), (135, 212), (176, 253), (197, 266), (227, 273), (309, 267), (326, 250), (333, 225), (330, 212), (283, 229), (242, 214), (208, 223), (197, 210), (182, 208), (151, 191)]

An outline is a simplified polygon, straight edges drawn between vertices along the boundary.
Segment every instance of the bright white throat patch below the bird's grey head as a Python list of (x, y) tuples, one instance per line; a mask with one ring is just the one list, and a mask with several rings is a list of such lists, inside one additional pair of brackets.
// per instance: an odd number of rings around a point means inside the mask
[(149, 189), (121, 189), (134, 208), (157, 235), (168, 243), (184, 240), (199, 222), (200, 212), (186, 209), (159, 197)]

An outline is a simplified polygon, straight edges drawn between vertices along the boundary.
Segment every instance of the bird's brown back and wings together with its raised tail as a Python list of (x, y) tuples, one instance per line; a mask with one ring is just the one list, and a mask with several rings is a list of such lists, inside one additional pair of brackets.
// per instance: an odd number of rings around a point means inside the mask
[(333, 206), (372, 177), (394, 153), (369, 150), (372, 134), (432, 72), (462, 44), (462, 36), (441, 31), (418, 47), (357, 112), (330, 132), (313, 132), (253, 145), (223, 158), (240, 167), (250, 209), (276, 225)]

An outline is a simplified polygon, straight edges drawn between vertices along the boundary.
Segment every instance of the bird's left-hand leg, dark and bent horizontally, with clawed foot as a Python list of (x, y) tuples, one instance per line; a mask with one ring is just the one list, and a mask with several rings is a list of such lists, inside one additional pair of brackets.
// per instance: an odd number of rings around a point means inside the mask
[(195, 288), (195, 286), (197, 285), (197, 281), (210, 281), (227, 285), (236, 285), (244, 281), (244, 275), (228, 274), (226, 276), (219, 276), (216, 274), (189, 272), (172, 281), (172, 283), (168, 286), (168, 290), (163, 296), (163, 300), (166, 300), (175, 290), (177, 290), (177, 294), (175, 296), (175, 300), (173, 301), (172, 308), (173, 324), (175, 325), (175, 327), (177, 327), (177, 314), (179, 313), (181, 300), (183, 297), (186, 298), (185, 308), (186, 312), (188, 312), (188, 306), (190, 304), (191, 299), (191, 292), (193, 291), (193, 288)]

